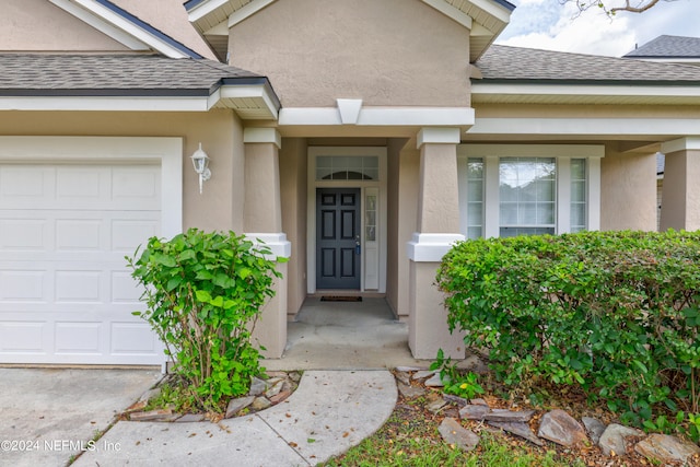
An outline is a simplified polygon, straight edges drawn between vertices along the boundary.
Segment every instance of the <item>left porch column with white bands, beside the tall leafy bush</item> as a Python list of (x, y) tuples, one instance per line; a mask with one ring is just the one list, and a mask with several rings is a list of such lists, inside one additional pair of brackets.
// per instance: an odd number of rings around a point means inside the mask
[[(246, 128), (244, 229), (246, 236), (260, 240), (272, 256), (289, 258), (291, 244), (282, 232), (279, 150), (280, 133), (275, 128)], [(287, 346), (287, 262), (278, 264), (281, 279), (275, 280), (275, 296), (262, 308), (253, 339), (266, 348), (268, 359), (282, 357)]]

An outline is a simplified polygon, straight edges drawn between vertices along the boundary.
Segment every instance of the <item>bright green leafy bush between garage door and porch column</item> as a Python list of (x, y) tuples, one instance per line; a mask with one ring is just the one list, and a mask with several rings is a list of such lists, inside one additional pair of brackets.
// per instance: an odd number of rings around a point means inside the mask
[(152, 237), (126, 258), (145, 287), (147, 311), (133, 314), (165, 343), (198, 409), (220, 411), (222, 398), (247, 393), (264, 370), (250, 335), (280, 277), (269, 254), (233, 232), (190, 229), (171, 241)]

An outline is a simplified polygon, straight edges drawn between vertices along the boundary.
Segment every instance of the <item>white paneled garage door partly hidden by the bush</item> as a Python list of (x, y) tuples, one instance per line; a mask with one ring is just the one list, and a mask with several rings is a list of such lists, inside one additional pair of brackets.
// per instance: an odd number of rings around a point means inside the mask
[(125, 255), (161, 235), (152, 162), (0, 162), (0, 363), (160, 364)]

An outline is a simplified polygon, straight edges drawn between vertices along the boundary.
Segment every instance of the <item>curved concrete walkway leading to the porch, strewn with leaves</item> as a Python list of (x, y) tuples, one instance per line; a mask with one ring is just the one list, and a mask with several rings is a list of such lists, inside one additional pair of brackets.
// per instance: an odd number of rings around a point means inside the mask
[(388, 371), (308, 371), (284, 402), (218, 424), (118, 422), (80, 466), (312, 466), (374, 433), (396, 405)]

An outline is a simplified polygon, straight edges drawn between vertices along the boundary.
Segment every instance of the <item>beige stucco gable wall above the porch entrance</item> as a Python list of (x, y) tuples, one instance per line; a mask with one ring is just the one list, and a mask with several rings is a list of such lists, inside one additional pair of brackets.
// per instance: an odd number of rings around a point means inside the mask
[(278, 0), (232, 27), (229, 50), (287, 107), (469, 105), (469, 31), (419, 0)]

